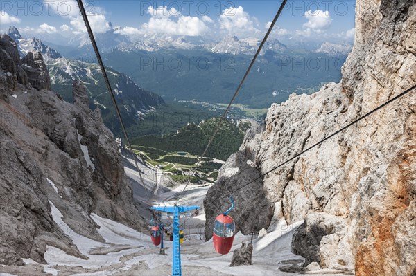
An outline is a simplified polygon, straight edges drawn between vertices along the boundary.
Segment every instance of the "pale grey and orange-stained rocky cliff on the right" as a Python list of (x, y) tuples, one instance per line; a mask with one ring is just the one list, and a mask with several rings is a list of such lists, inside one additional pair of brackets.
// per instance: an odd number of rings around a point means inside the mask
[[(356, 42), (343, 80), (272, 105), (265, 129), (245, 139), (222, 169), (229, 173), (220, 174), (207, 194), (207, 238), (214, 216), (228, 205), (223, 194), (415, 83), (415, 1), (358, 0)], [(267, 228), (278, 207), (287, 223), (304, 221), (292, 248), (305, 265), (316, 261), (356, 275), (415, 275), (415, 93), (235, 192), (241, 209), (231, 215), (239, 230)], [(259, 202), (262, 208), (255, 207)]]

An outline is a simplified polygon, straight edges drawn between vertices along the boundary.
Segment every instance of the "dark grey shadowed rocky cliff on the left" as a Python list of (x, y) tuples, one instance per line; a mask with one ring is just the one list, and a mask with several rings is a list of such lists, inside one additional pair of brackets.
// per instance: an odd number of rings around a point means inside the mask
[(0, 264), (45, 263), (46, 246), (85, 258), (53, 221), (51, 203), (71, 230), (103, 241), (89, 214), (146, 227), (133, 204), (121, 157), (85, 86), (73, 102), (49, 91), (41, 53), (20, 60), (0, 37)]

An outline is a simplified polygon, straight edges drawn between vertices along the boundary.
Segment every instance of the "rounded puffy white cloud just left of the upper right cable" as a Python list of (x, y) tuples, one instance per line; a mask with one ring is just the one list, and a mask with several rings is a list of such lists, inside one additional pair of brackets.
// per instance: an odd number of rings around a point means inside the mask
[(260, 30), (254, 26), (255, 21), (256, 19), (250, 17), (241, 6), (226, 8), (219, 18), (221, 30), (227, 30), (231, 35), (242, 37), (255, 36), (260, 33)]

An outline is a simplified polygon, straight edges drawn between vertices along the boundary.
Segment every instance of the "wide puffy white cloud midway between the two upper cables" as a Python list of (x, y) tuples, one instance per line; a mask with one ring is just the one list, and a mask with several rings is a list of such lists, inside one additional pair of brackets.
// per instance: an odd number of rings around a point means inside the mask
[[(197, 36), (206, 33), (209, 28), (198, 17), (180, 15), (175, 8), (159, 7), (148, 8), (150, 17), (148, 23), (143, 24), (143, 33), (160, 33), (166, 35), (189, 35)], [(130, 29), (130, 31), (135, 30)]]

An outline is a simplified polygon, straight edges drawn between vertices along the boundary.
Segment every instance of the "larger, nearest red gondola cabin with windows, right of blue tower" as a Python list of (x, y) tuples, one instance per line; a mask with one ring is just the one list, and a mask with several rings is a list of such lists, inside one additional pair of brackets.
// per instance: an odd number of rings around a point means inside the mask
[(234, 219), (227, 214), (220, 214), (214, 221), (214, 248), (221, 255), (228, 254), (234, 241)]

